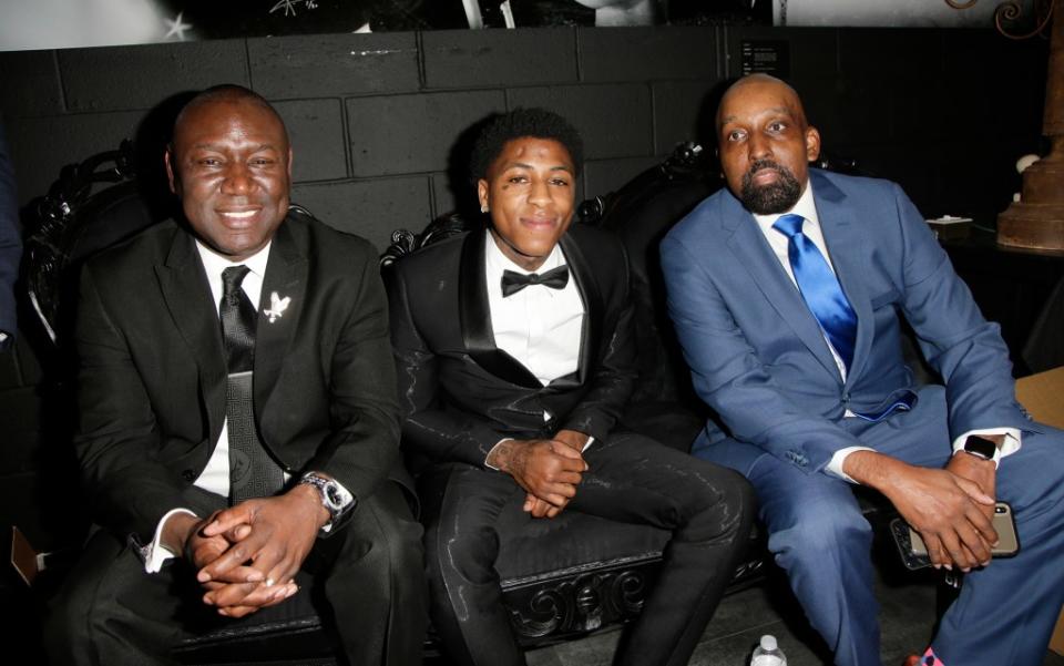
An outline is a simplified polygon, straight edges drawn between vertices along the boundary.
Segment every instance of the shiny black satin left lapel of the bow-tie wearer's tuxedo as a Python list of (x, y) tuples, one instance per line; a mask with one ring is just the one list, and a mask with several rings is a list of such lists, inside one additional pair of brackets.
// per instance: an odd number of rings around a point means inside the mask
[(495, 347), (491, 329), (491, 309), (488, 305), (488, 285), (484, 280), (483, 232), (471, 232), (462, 242), (458, 265), (458, 309), (462, 326), (462, 342), (478, 366), (511, 383), (526, 388), (543, 385), (512, 356)]

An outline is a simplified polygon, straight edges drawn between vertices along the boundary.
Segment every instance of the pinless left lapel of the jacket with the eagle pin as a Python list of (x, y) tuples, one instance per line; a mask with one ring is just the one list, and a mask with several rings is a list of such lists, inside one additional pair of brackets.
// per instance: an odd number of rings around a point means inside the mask
[(166, 263), (155, 267), (155, 275), (174, 326), (196, 359), (209, 441), (214, 442), (222, 433), (225, 420), (226, 367), (222, 325), (203, 262), (188, 234), (178, 230), (174, 235)]

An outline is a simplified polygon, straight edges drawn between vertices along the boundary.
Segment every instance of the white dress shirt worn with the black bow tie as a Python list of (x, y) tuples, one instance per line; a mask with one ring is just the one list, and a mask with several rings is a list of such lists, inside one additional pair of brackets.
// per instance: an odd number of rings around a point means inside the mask
[[(564, 266), (566, 262), (561, 246), (555, 245), (534, 271), (525, 270), (502, 254), (490, 230), (484, 233), (488, 235), (484, 239), (484, 279), (495, 347), (521, 362), (543, 386), (575, 372), (580, 367), (584, 301), (572, 273), (561, 289), (529, 285), (516, 294), (502, 295), (503, 270), (542, 275)], [(543, 420), (550, 418), (551, 414), (544, 411)], [(500, 443), (508, 439), (511, 438), (500, 440)], [(593, 441), (594, 438), (589, 438), (584, 450)], [(491, 457), (490, 452), (488, 457)]]

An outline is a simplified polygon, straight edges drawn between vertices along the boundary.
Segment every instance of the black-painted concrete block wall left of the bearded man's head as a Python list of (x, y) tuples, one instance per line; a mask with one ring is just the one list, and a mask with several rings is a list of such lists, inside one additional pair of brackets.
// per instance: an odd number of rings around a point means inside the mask
[(583, 191), (618, 186), (692, 136), (692, 112), (658, 115), (655, 103), (685, 84), (697, 109), (725, 75), (724, 43), (715, 28), (565, 28), (0, 53), (0, 110), (24, 203), (63, 164), (133, 136), (171, 95), (248, 85), (291, 132), (293, 198), (382, 247), (396, 227), (420, 228), (471, 192), (454, 192), (452, 146), (495, 111), (570, 116), (587, 144)]

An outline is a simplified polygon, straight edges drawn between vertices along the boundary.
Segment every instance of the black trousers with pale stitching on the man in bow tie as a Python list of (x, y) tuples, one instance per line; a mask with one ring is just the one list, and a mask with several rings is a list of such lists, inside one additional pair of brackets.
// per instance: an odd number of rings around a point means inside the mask
[[(755, 514), (736, 472), (624, 433), (584, 453), (590, 469), (565, 511), (672, 531), (661, 576), (615, 664), (687, 664), (743, 556)], [(460, 664), (516, 666), (524, 655), (502, 604), (500, 543), (526, 530), (525, 493), (509, 475), (463, 463), (419, 482), (433, 626)], [(518, 509), (514, 509), (516, 505)]]

